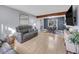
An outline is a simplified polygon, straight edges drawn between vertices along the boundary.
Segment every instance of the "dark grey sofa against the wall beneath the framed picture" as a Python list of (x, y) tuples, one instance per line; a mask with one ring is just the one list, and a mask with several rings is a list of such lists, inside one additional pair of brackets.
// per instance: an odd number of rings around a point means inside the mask
[(30, 40), (38, 35), (38, 30), (30, 25), (21, 25), (16, 27), (17, 35), (16, 39), (20, 43)]

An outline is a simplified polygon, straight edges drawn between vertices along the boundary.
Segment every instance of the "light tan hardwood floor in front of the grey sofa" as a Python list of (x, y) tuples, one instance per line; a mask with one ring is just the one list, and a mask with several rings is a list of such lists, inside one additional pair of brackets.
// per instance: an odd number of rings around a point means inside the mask
[(22, 44), (15, 40), (14, 49), (20, 54), (66, 53), (63, 35), (54, 35), (52, 33), (45, 33), (45, 32), (39, 33), (37, 37), (29, 41), (26, 41)]

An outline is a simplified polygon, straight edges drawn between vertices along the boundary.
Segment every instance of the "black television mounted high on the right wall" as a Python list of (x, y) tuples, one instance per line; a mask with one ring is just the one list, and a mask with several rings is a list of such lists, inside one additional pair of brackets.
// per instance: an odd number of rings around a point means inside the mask
[(68, 11), (66, 12), (66, 25), (74, 26), (76, 23), (76, 19), (73, 16), (73, 6), (70, 6)]

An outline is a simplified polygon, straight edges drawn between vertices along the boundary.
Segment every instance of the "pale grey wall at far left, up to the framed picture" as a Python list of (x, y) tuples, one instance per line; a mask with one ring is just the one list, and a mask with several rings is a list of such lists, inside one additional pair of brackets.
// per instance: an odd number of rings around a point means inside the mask
[(19, 13), (8, 7), (0, 6), (0, 34), (11, 33), (11, 30), (15, 31), (18, 25)]

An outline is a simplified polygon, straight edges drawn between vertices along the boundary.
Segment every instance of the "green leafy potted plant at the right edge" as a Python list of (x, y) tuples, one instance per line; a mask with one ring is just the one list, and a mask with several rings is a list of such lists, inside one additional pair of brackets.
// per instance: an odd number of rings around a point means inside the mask
[(79, 48), (79, 32), (72, 32), (72, 35), (70, 37), (70, 41), (76, 45), (76, 52), (78, 53)]

